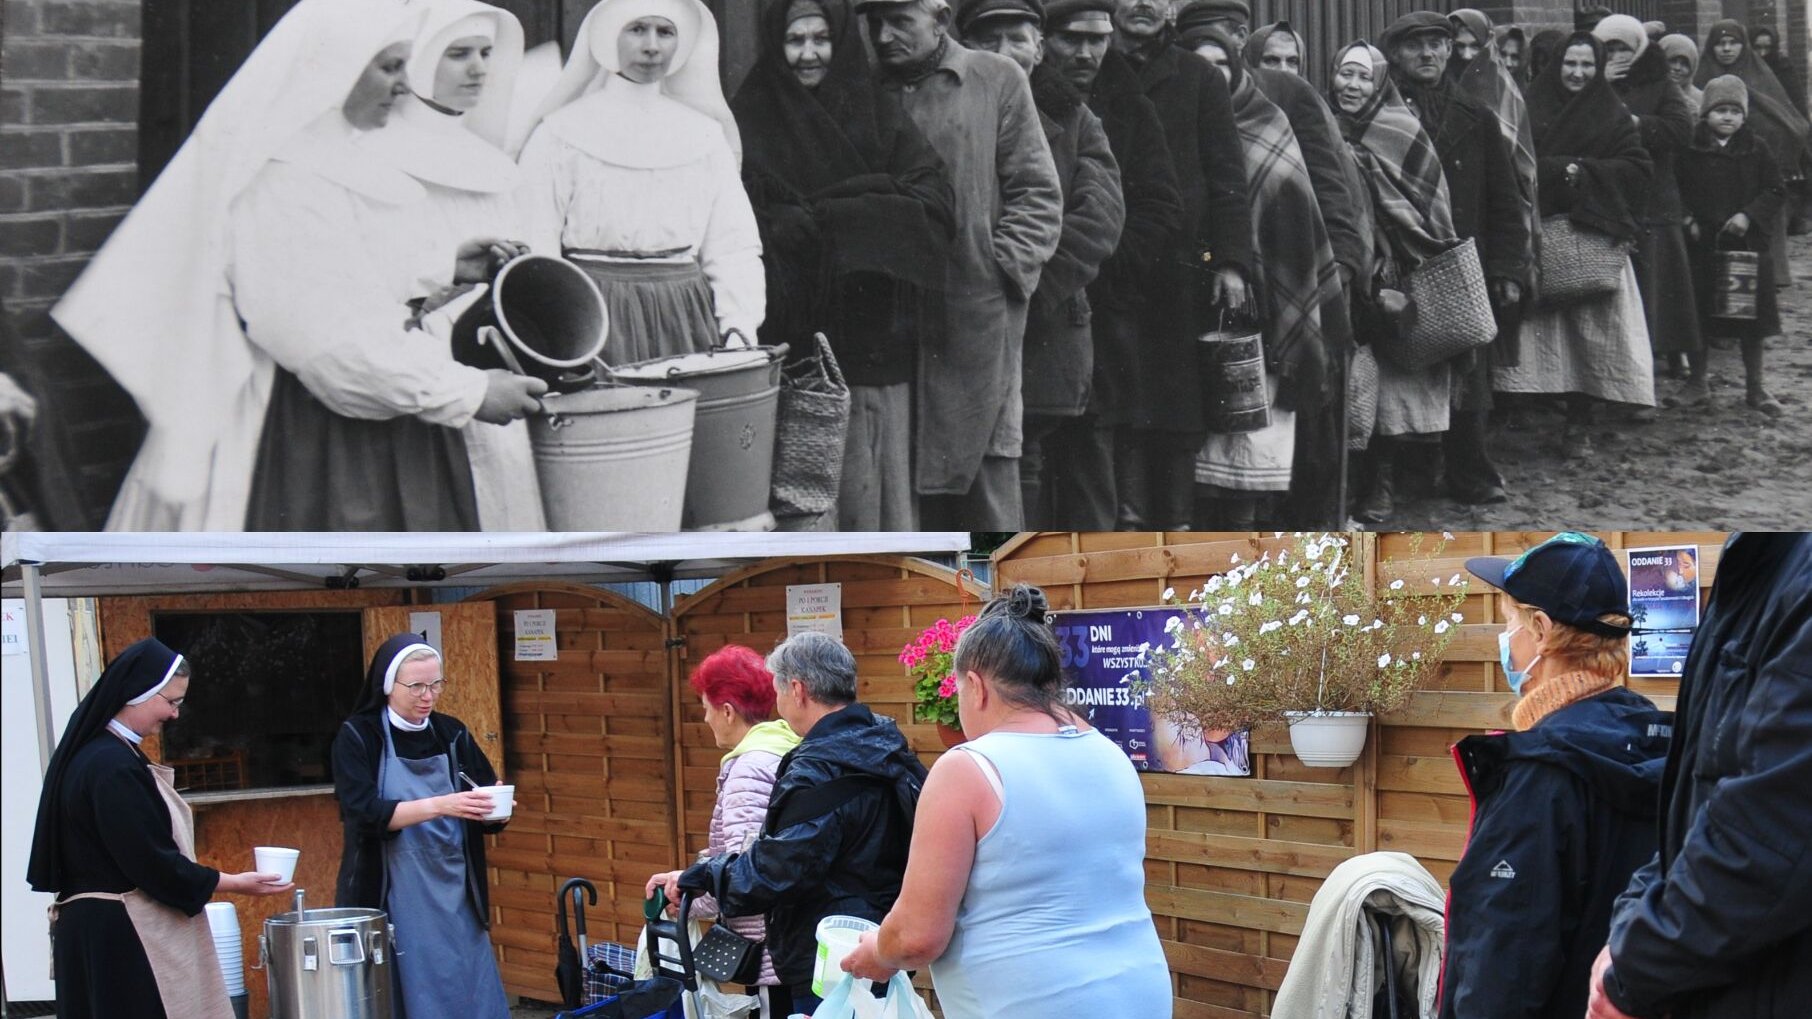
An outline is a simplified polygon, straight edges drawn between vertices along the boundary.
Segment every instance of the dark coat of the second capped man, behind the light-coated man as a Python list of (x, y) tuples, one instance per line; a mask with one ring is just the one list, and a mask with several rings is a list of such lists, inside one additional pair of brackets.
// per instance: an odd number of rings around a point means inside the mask
[(1120, 163), (1100, 118), (1062, 74), (1036, 67), (1031, 98), (1064, 185), (1064, 234), (1026, 312), (1026, 413), (1080, 417), (1089, 406), (1094, 339), (1087, 285), (1120, 243)]

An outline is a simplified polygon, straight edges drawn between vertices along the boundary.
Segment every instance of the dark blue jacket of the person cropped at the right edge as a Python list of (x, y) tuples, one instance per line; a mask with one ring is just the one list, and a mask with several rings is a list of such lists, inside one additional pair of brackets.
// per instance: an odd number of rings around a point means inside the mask
[(1812, 535), (1732, 537), (1680, 682), (1660, 852), (1611, 928), (1631, 1015), (1812, 1014)]

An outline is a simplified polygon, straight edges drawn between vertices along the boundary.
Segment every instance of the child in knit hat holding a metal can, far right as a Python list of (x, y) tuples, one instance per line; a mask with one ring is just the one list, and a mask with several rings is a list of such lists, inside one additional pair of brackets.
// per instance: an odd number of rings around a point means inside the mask
[[(1743, 348), (1743, 375), (1749, 406), (1779, 417), (1781, 404), (1769, 395), (1761, 381), (1761, 352), (1765, 337), (1779, 335), (1781, 314), (1774, 297), (1774, 270), (1769, 259), (1769, 227), (1776, 221), (1787, 189), (1781, 183), (1779, 163), (1754, 131), (1749, 120), (1749, 87), (1734, 74), (1723, 74), (1705, 83), (1700, 105), (1700, 125), (1692, 147), (1676, 163), (1680, 198), (1687, 207), (1687, 238), (1692, 241), (1692, 279), (1700, 297), (1700, 315), (1705, 335), (1730, 335)], [(1761, 252), (1756, 281), (1756, 317), (1712, 317), (1716, 286), (1714, 254), (1718, 250)], [(1705, 366), (1711, 352), (1692, 355), (1692, 374), (1685, 390), (1669, 403), (1674, 406), (1701, 406), (1711, 401)]]

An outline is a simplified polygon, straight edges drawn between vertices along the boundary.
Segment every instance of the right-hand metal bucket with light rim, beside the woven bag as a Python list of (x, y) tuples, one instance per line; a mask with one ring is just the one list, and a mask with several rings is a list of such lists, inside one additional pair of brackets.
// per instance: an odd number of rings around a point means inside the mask
[(786, 346), (707, 350), (611, 368), (636, 386), (698, 390), (698, 428), (687, 471), (687, 529), (765, 531), (774, 528), (774, 421)]

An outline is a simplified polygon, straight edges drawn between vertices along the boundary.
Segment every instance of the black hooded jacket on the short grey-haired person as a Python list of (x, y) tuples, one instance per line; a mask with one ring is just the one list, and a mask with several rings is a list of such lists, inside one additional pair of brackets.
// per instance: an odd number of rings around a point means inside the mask
[[(846, 776), (837, 805), (788, 821), (788, 803)], [(710, 892), (723, 916), (768, 917), (774, 972), (788, 986), (812, 979), (817, 921), (832, 914), (881, 921), (901, 894), (911, 814), (924, 765), (892, 718), (852, 704), (821, 718), (779, 763), (761, 838), (745, 852), (687, 869), (680, 887)], [(776, 827), (785, 823), (785, 827)]]

